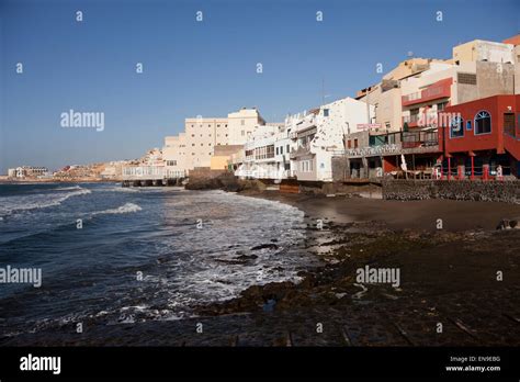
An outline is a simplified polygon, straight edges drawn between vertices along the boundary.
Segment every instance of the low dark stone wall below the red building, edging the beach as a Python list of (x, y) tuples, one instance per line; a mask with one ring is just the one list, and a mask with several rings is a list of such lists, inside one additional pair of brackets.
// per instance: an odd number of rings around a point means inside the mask
[(520, 181), (387, 179), (383, 181), (383, 199), (452, 199), (520, 204)]

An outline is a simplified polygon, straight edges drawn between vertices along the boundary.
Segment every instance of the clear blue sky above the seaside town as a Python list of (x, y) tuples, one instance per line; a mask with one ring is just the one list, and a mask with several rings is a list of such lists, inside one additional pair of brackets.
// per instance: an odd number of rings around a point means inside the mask
[[(320, 103), (321, 79), (331, 99), (353, 96), (377, 63), (501, 41), (519, 14), (517, 0), (0, 0), (0, 173), (139, 157), (199, 114), (282, 121)], [(60, 127), (69, 109), (103, 112), (104, 131)]]

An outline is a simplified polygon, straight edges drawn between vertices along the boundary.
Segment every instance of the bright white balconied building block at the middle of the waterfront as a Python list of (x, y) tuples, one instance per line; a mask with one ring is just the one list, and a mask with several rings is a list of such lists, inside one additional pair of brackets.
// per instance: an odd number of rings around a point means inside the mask
[(245, 145), (238, 177), (331, 181), (334, 154), (344, 136), (365, 128), (374, 106), (352, 98), (287, 116), (283, 125), (257, 126)]

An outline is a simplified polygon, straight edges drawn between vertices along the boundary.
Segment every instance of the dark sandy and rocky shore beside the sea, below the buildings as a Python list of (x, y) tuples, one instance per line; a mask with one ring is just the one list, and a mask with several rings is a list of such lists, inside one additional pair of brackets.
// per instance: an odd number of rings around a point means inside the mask
[[(499, 220), (520, 216), (520, 206), (251, 189), (240, 194), (304, 211), (304, 250), (321, 265), (299, 272), (299, 283), (250, 286), (236, 299), (194, 306), (197, 316), (192, 318), (111, 326), (92, 322), (86, 323), (80, 336), (67, 324), (3, 338), (0, 344), (520, 345), (520, 229), (496, 229)], [(444, 222), (442, 229), (436, 225), (438, 218)], [(398, 288), (357, 282), (357, 270), (366, 266), (399, 269)], [(200, 333), (199, 327), (203, 327)]]

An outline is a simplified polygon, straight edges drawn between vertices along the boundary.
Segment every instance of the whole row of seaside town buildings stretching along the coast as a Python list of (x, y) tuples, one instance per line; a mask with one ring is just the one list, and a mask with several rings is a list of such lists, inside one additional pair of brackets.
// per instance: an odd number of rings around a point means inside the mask
[(265, 122), (257, 108), (186, 119), (142, 158), (9, 169), (7, 180), (166, 186), (194, 173), (331, 182), (383, 177), (520, 176), (520, 35), (475, 40), (449, 59), (399, 63), (381, 81), (312, 110)]

